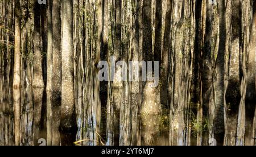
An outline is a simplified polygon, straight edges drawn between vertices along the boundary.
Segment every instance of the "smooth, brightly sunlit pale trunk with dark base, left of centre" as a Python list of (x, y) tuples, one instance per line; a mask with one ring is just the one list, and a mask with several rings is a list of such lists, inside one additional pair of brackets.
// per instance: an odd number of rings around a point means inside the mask
[(69, 131), (76, 130), (73, 65), (73, 0), (63, 1), (63, 17), (60, 127), (63, 128), (62, 131), (64, 133), (65, 131), (69, 133)]

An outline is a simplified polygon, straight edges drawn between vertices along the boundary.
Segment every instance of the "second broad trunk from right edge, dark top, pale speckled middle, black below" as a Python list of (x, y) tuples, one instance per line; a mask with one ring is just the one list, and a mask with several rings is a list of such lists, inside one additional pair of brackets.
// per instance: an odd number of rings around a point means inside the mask
[(228, 55), (228, 85), (226, 87), (226, 133), (224, 145), (234, 146), (236, 144), (237, 114), (241, 100), (240, 94), (240, 33), (241, 33), (241, 3), (233, 1), (230, 10), (229, 26), (229, 55)]

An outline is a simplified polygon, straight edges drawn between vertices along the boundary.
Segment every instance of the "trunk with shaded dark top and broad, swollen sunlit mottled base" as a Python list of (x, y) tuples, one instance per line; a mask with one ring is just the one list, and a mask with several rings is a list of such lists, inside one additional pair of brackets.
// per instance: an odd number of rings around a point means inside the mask
[[(143, 1), (142, 6), (142, 26), (143, 45), (142, 54), (144, 61), (152, 61), (152, 5), (151, 0)], [(156, 68), (156, 67), (155, 67)], [(154, 69), (153, 69), (154, 71)], [(154, 75), (148, 72), (147, 75)], [(162, 113), (160, 105), (159, 87), (153, 88), (152, 82), (146, 81), (143, 89), (143, 101), (141, 104), (141, 129), (142, 145), (159, 145), (160, 115)]]

